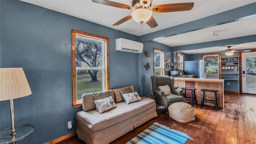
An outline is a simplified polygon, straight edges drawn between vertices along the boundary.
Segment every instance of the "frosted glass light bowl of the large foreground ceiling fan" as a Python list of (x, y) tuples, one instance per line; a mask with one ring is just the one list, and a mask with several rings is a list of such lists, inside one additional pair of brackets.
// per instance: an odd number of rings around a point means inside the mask
[(152, 16), (151, 10), (139, 8), (132, 12), (132, 19), (140, 24), (147, 22)]

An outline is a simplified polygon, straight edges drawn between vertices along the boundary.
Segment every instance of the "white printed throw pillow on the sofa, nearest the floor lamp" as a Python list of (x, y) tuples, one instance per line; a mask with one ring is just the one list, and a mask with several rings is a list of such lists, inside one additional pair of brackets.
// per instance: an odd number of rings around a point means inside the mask
[(116, 108), (116, 104), (115, 104), (112, 96), (110, 96), (108, 98), (101, 99), (101, 100), (94, 100), (94, 103), (95, 103), (98, 111), (100, 112), (100, 114), (102, 114), (102, 112), (105, 112), (112, 108)]

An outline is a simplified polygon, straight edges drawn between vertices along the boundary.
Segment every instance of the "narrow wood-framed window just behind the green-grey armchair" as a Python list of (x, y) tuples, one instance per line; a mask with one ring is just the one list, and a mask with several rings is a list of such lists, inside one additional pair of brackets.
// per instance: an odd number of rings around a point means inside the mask
[(164, 50), (154, 48), (154, 75), (164, 76)]

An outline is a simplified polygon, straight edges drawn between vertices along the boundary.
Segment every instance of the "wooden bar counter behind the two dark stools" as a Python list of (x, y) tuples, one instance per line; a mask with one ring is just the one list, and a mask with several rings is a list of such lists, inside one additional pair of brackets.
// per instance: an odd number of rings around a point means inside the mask
[[(177, 78), (174, 77), (174, 86), (178, 89), (182, 87), (196, 88), (196, 102), (198, 106), (201, 104), (202, 91), (201, 89), (218, 90), (217, 100), (218, 108), (224, 108), (224, 80), (223, 79), (208, 79), (208, 78)], [(187, 96), (191, 97), (190, 90), (187, 90)], [(204, 98), (214, 100), (213, 92), (205, 92)], [(214, 104), (204, 102), (205, 106), (212, 106)]]

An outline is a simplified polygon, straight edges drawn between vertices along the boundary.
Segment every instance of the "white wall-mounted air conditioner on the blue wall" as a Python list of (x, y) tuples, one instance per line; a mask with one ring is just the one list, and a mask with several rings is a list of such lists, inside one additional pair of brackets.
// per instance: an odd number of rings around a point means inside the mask
[(118, 38), (116, 39), (116, 50), (124, 52), (142, 53), (143, 44), (141, 42)]

